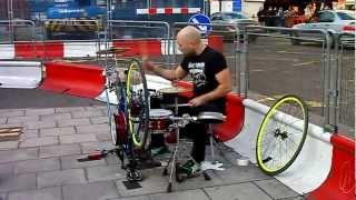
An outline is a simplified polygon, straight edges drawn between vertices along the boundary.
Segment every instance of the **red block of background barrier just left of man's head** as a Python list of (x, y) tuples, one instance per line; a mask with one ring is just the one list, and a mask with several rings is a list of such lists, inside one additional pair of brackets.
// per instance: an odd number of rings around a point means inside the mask
[(119, 40), (113, 41), (113, 47), (128, 48), (122, 56), (135, 57), (135, 56), (161, 56), (161, 42), (158, 39), (147, 40)]

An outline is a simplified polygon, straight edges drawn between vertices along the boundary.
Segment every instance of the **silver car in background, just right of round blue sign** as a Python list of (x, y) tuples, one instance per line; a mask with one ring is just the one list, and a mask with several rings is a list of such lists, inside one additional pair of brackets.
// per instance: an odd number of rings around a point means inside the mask
[[(256, 20), (241, 12), (216, 12), (210, 16), (210, 20), (212, 22), (212, 34), (221, 34), (225, 40), (237, 39), (236, 28), (238, 28), (241, 39), (247, 26), (258, 26)], [(249, 37), (249, 41), (255, 39), (256, 37)]]

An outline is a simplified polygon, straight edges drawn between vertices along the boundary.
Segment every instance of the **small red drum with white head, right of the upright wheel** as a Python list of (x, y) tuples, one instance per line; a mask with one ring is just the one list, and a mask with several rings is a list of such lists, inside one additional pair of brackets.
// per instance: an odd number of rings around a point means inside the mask
[(149, 131), (154, 134), (168, 132), (172, 111), (166, 109), (151, 109), (149, 111)]

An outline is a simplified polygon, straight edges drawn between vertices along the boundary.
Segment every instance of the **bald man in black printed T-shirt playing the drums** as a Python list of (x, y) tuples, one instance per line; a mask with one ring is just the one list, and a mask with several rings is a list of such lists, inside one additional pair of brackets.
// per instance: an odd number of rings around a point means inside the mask
[[(191, 26), (178, 32), (177, 44), (184, 59), (175, 69), (164, 69), (149, 62), (147, 58), (144, 59), (144, 67), (171, 81), (190, 74), (194, 83), (194, 98), (188, 102), (191, 114), (204, 111), (225, 113), (225, 97), (231, 90), (231, 77), (225, 57), (204, 44), (200, 32)], [(190, 123), (186, 130), (189, 134), (191, 133), (194, 140), (191, 157), (196, 162), (189, 160), (184, 168), (192, 174), (199, 169), (199, 163), (205, 160), (207, 126)]]

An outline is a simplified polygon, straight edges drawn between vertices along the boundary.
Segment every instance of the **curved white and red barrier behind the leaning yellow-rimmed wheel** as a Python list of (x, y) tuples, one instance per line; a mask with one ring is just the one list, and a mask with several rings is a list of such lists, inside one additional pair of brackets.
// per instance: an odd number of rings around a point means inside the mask
[[(241, 132), (226, 142), (256, 163), (256, 139), (268, 107), (244, 100), (245, 122)], [(355, 141), (325, 132), (309, 124), (304, 147), (295, 162), (275, 177), (312, 200), (352, 200), (355, 196)]]

